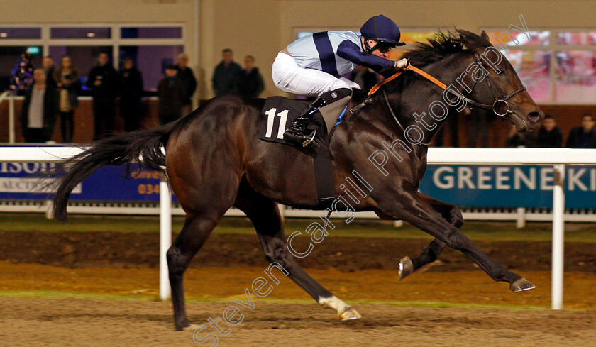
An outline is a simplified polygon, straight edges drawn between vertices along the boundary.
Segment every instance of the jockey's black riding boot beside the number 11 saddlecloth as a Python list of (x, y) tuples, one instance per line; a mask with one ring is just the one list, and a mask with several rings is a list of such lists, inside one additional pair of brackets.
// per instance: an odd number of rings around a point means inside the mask
[(318, 147), (318, 144), (314, 141), (316, 130), (308, 131), (307, 126), (309, 126), (310, 121), (321, 107), (331, 104), (333, 101), (344, 97), (345, 94), (351, 94), (351, 92), (351, 89), (341, 88), (321, 94), (297, 119), (294, 119), (292, 125), (284, 132), (285, 138), (295, 143), (302, 143), (302, 147), (309, 147), (310, 145)]

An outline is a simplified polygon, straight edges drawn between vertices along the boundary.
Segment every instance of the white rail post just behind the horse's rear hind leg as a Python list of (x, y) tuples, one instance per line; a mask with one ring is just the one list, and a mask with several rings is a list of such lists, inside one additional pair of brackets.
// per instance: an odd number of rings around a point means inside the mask
[(172, 246), (172, 192), (165, 173), (160, 175), (160, 299), (170, 298), (170, 272), (167, 250)]

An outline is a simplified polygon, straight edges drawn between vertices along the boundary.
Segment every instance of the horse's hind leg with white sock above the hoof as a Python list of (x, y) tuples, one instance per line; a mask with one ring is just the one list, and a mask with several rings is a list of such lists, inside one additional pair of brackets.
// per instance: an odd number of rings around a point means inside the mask
[[(360, 314), (355, 309), (319, 285), (296, 263), (287, 249), (283, 221), (274, 201), (255, 192), (247, 182), (243, 181), (234, 206), (241, 209), (253, 222), (267, 261), (276, 267), (280, 265), (285, 270), (283, 273), (309, 293), (321, 306), (336, 309), (339, 319), (360, 318)], [(270, 266), (270, 269), (272, 270), (273, 266)]]

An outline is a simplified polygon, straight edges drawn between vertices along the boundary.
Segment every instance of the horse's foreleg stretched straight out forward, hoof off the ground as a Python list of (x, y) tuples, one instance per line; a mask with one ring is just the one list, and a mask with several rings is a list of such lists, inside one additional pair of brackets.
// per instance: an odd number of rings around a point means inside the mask
[(407, 221), (409, 224), (426, 231), (426, 233), (446, 243), (447, 246), (460, 250), (460, 252), (468, 256), (470, 260), (473, 260), (493, 280), (508, 282), (509, 289), (512, 291), (519, 292), (534, 288), (534, 285), (522, 276), (510, 272), (482, 252), (456, 226), (451, 225), (443, 219), (443, 216), (435, 211), (419, 194), (409, 192), (407, 195), (402, 195), (401, 198), (399, 204), (392, 203), (391, 206), (386, 206), (382, 212), (389, 214), (394, 219)]

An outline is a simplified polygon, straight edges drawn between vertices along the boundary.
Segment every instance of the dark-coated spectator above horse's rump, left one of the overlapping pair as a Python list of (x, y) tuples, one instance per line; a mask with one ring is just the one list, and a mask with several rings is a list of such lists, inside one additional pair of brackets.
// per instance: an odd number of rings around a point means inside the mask
[(184, 87), (177, 78), (178, 70), (175, 65), (165, 68), (165, 78), (158, 85), (158, 116), (160, 124), (164, 125), (180, 119), (184, 102)]

